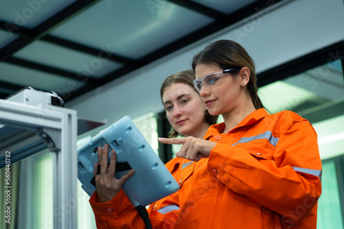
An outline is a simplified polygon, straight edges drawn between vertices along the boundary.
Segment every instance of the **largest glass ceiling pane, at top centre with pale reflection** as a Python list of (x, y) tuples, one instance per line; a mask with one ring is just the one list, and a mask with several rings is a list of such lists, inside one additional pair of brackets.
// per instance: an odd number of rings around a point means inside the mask
[(214, 21), (168, 1), (159, 2), (156, 6), (149, 1), (100, 1), (50, 35), (96, 49), (109, 46), (113, 53), (138, 59)]

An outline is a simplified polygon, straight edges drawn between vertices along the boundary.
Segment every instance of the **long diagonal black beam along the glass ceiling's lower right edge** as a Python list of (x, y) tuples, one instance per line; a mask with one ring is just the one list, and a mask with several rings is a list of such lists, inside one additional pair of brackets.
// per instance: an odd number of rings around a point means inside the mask
[[(282, 1), (282, 0), (275, 0), (274, 3), (271, 3), (270, 5), (273, 5), (279, 1)], [(195, 8), (199, 7), (199, 4), (193, 4), (193, 3), (185, 4), (185, 3), (183, 3), (184, 1), (173, 1), (173, 2), (178, 3), (180, 5), (183, 4), (182, 5), (183, 7), (185, 5), (185, 7), (189, 7), (190, 10), (196, 10)], [(190, 2), (190, 1), (188, 1), (188, 2)], [(261, 10), (266, 10), (266, 8), (270, 5), (267, 5), (266, 1), (255, 1), (254, 3), (251, 3), (250, 5), (247, 5), (246, 7), (239, 10), (239, 13), (235, 12), (233, 14), (226, 15), (226, 18), (231, 23), (236, 23), (237, 21), (245, 19), (248, 16), (255, 14), (256, 12), (259, 12)], [(202, 8), (202, 9), (199, 8), (197, 10), (197, 12), (202, 12), (202, 11), (204, 11), (204, 9), (208, 9), (208, 8), (206, 8), (204, 6), (204, 8)], [(214, 11), (211, 14), (214, 14)], [(211, 14), (209, 14), (209, 15), (211, 15)], [(222, 18), (222, 17), (220, 17), (220, 18)], [(153, 62), (155, 60), (158, 60), (158, 59), (168, 55), (169, 53), (173, 53), (174, 51), (177, 51), (178, 49), (182, 49), (183, 47), (186, 47), (187, 45), (191, 45), (192, 43), (195, 43), (197, 40), (200, 40), (202, 38), (205, 38), (206, 36), (209, 36), (215, 32), (218, 32), (219, 30), (224, 29), (225, 27), (228, 27), (228, 25), (229, 25), (228, 21), (226, 21), (226, 23), (224, 23), (223, 20), (215, 21), (209, 25), (202, 27), (201, 29), (198, 29), (197, 31), (195, 31), (189, 35), (186, 35), (186, 36), (184, 36), (178, 40), (175, 40), (174, 42), (172, 42), (168, 45), (165, 45), (164, 47), (161, 47), (160, 49), (153, 51), (152, 53), (149, 53), (148, 55), (140, 58), (140, 60), (137, 61), (138, 64), (136, 64), (136, 67), (133, 67), (132, 65), (131, 66), (125, 65), (121, 69), (118, 69), (116, 71), (113, 71), (113, 72), (107, 74), (105, 77), (102, 77), (100, 79), (99, 84), (100, 85), (107, 84), (113, 80), (118, 79), (119, 77), (121, 77), (123, 75), (126, 75), (127, 73), (130, 73), (131, 71), (134, 71), (140, 67), (143, 67), (145, 62), (149, 63), (149, 62)], [(87, 93), (93, 89), (94, 89), (94, 86), (93, 87), (91, 85), (84, 86), (84, 87), (80, 88), (78, 91), (74, 92), (72, 97), (70, 97), (69, 100), (72, 100), (72, 99), (74, 99), (80, 95), (83, 95), (84, 93)]]

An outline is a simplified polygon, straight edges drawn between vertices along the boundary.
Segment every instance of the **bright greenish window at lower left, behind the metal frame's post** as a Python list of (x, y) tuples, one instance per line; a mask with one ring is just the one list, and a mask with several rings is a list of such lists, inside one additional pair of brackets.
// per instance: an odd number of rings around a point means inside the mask
[[(16, 162), (18, 202), (15, 228), (52, 228), (53, 169), (52, 153), (44, 150)], [(15, 173), (14, 173), (15, 174)]]

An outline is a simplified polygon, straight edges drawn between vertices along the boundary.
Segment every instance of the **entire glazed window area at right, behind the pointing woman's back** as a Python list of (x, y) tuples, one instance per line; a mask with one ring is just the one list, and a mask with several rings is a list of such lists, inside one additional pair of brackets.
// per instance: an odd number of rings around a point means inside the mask
[[(343, 228), (344, 77), (341, 60), (293, 75), (259, 88), (259, 97), (271, 112), (292, 110), (312, 123), (323, 161), (323, 192), (318, 202), (318, 228)], [(338, 176), (338, 179), (337, 179)]]

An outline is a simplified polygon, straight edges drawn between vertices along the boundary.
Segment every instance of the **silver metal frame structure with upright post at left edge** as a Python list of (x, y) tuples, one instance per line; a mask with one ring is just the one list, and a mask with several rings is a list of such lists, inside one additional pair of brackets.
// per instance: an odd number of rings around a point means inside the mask
[[(54, 155), (54, 213), (76, 202), (76, 110), (0, 99), (0, 123), (0, 133), (6, 127), (17, 130), (0, 141), (0, 167), (5, 166), (6, 151), (13, 163), (49, 148)], [(54, 214), (54, 228), (77, 228), (76, 206), (61, 212)]]

